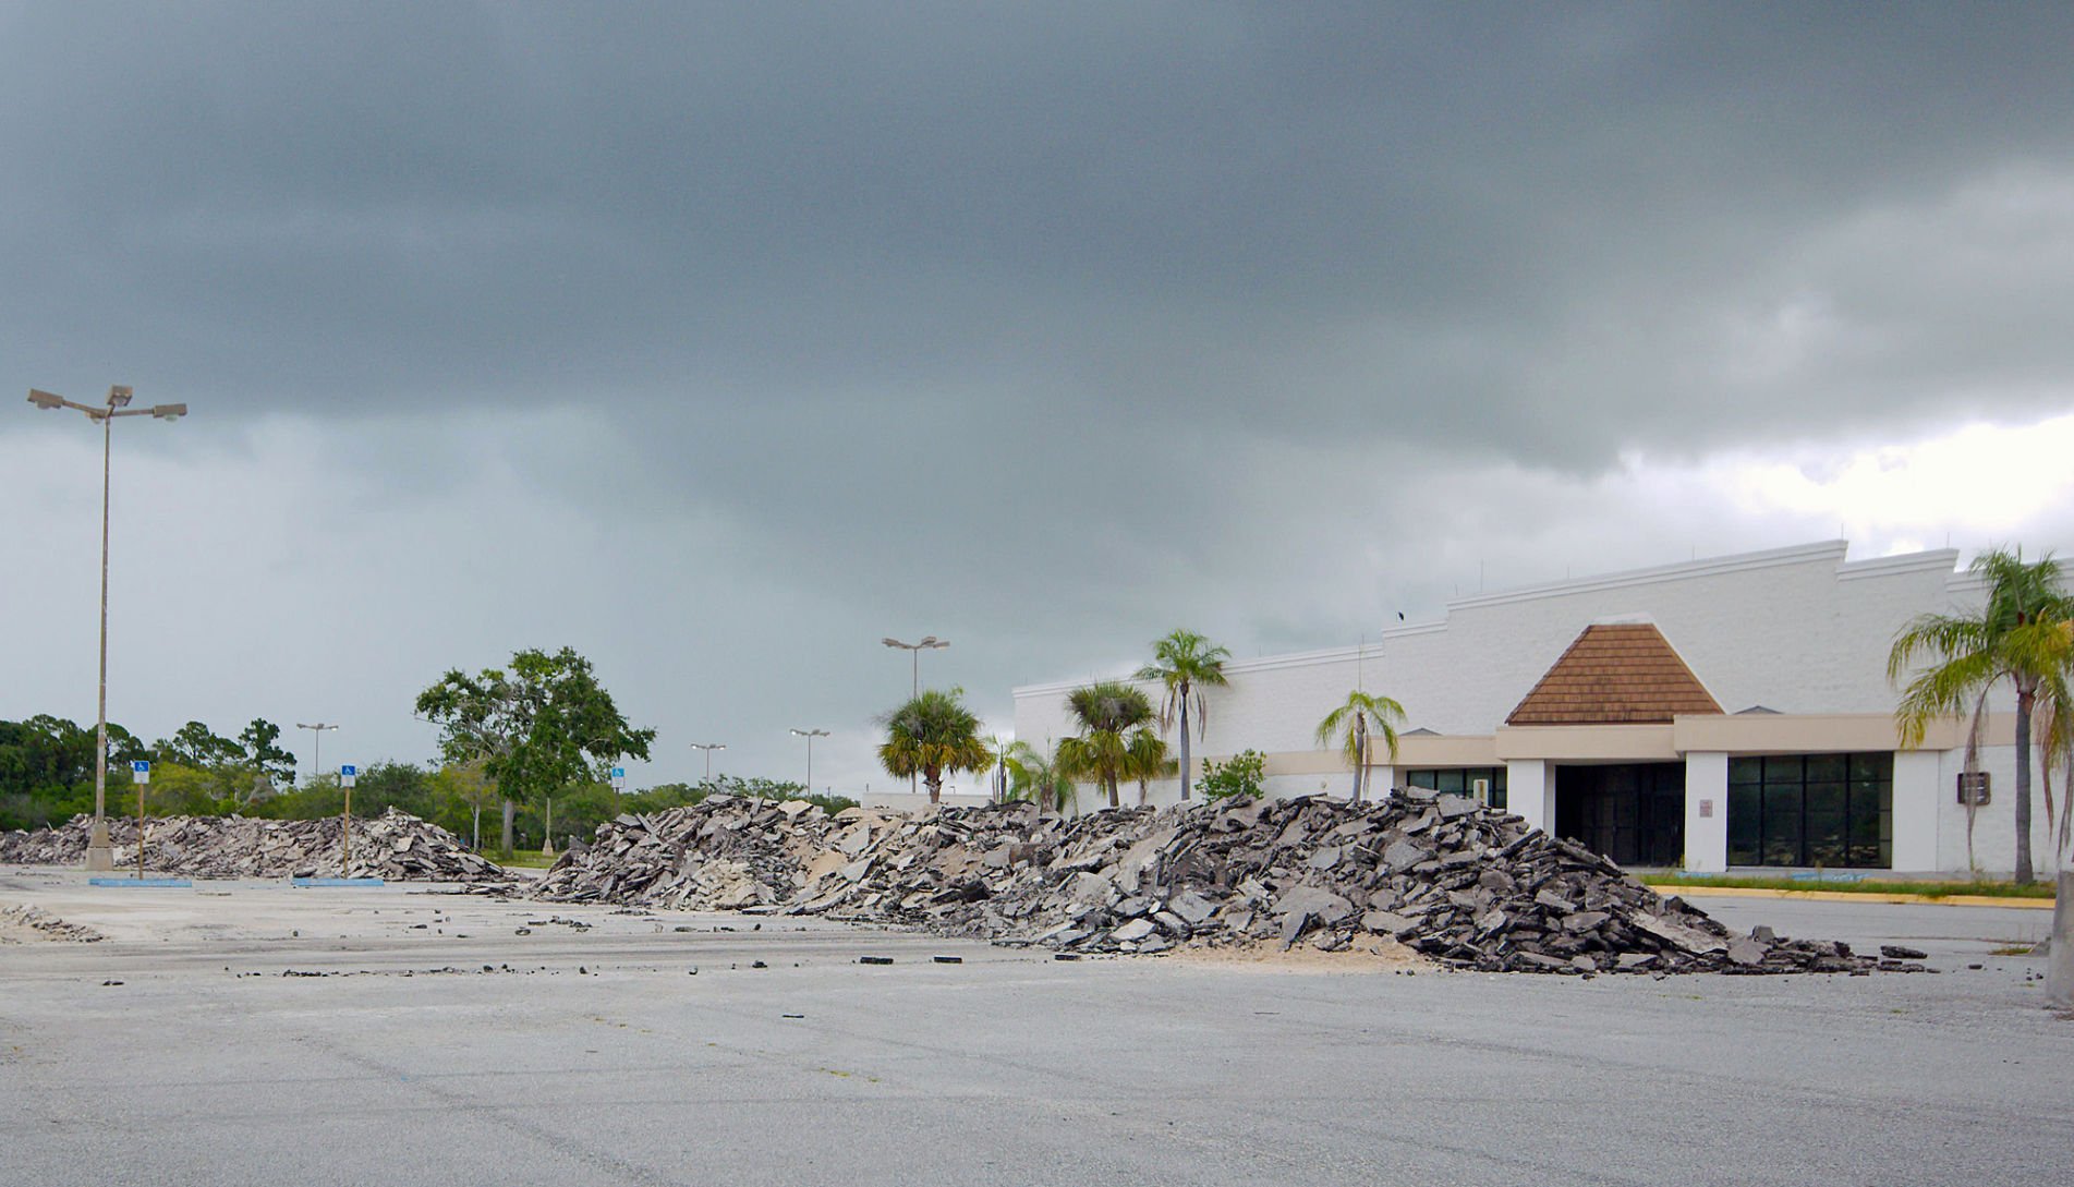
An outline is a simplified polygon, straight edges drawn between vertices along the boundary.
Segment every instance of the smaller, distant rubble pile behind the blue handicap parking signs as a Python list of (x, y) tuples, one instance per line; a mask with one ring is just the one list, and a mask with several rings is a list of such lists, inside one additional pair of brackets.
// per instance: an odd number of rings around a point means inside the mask
[[(79, 865), (93, 820), (75, 816), (58, 828), (0, 832), (0, 863)], [(137, 861), (137, 822), (108, 818), (116, 867)], [(330, 878), (338, 876), (338, 820), (251, 820), (245, 816), (166, 816), (145, 822), (145, 867), (185, 878)], [(390, 882), (485, 882), (504, 867), (469, 853), (460, 840), (394, 807), (353, 822), (351, 878)]]

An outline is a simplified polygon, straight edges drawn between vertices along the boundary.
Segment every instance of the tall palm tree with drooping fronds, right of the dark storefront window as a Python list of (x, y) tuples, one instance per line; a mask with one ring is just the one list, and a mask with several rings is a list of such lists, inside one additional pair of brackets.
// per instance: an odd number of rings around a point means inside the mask
[[(1894, 708), (1902, 745), (1923, 745), (1933, 720), (1970, 710), (1966, 770), (1974, 768), (1987, 728), (1987, 697), (2003, 681), (2016, 689), (2016, 880), (2030, 865), (2030, 716), (2041, 693), (2059, 701), (2074, 658), (2074, 598), (2062, 585), (2051, 554), (2024, 562), (2022, 548), (1995, 548), (1968, 571), (1987, 581), (1979, 614), (1923, 614), (1894, 635), (1887, 681), (1900, 685), (1918, 662), (1929, 666), (1902, 685)], [(1972, 851), (1972, 803), (1966, 805), (1966, 849)]]

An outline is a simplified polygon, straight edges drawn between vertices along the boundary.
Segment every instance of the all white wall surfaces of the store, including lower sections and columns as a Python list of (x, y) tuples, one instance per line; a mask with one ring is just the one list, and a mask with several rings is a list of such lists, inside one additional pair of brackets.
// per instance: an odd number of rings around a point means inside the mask
[[(1842, 542), (1825, 542), (1460, 598), (1448, 604), (1444, 620), (1385, 631), (1365, 650), (1228, 662), (1232, 683), (1205, 693), (1209, 728), (1193, 751), (1199, 762), (1240, 749), (1315, 755), (1319, 718), (1346, 701), (1356, 681), (1402, 701), (1406, 730), (1491, 735), (1576, 635), (1607, 618), (1655, 623), (1723, 712), (1767, 706), (1784, 714), (1889, 714), (1896, 691), (1885, 662), (1896, 631), (1916, 614), (1979, 606), (1979, 583), (1956, 573), (1956, 564), (1954, 550), (1854, 562)], [(1066, 691), (1078, 683), (1085, 681), (1018, 687), (1016, 737), (1041, 749), (1070, 737)], [(1159, 689), (1147, 691), (1157, 699)], [(1993, 703), (2012, 708), (2008, 697)], [(1705, 762), (1715, 757), (1721, 755), (1709, 751)], [(1974, 863), (2006, 874), (2014, 865), (2014, 749), (1989, 747), (1985, 762), (1995, 793), (1977, 818)], [(1539, 780), (1529, 766), (1539, 766)], [(1958, 768), (1960, 751), (1896, 757), (1896, 869), (1966, 869), (1966, 811), (1954, 795)], [(1344, 768), (1307, 764), (1305, 770), (1276, 772), (1271, 764), (1267, 791), (1346, 795)], [(1379, 768), (1371, 786), (1388, 789), (1394, 774)], [(1508, 770), (1512, 811), (1541, 826), (1551, 824), (1553, 811), (1553, 780), (1545, 774), (1545, 764), (1518, 760)], [(1701, 774), (1705, 789), (1713, 789), (1713, 768)], [(1688, 861), (1694, 843), (1703, 851), (1697, 859), (1711, 861), (1715, 838), (1694, 830), (1703, 793), (1692, 791), (1699, 784), (1690, 778), (1688, 772)], [(1137, 803), (1137, 784), (1122, 797)], [(1178, 799), (1178, 780), (1151, 784), (1151, 803)], [(1726, 786), (1715, 799), (1715, 816), (1705, 824), (1721, 832), (1726, 859)], [(1095, 789), (1081, 795), (1087, 809), (1099, 801)], [(2043, 874), (2053, 869), (2053, 851), (2037, 791), (2033, 816), (2033, 859)]]

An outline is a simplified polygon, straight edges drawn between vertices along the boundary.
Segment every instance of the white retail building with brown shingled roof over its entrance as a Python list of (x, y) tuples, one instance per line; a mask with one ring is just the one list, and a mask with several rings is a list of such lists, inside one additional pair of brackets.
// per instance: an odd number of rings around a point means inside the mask
[[(1910, 618), (1981, 600), (1954, 550), (1848, 560), (1844, 542), (1460, 598), (1365, 647), (1226, 662), (1193, 749), (1197, 766), (1263, 751), (1273, 795), (1346, 795), (1346, 762), (1313, 730), (1358, 683), (1406, 712), (1369, 786), (1481, 793), (1628, 865), (2008, 874), (2014, 699), (1991, 701), (1968, 863), (1964, 728), (1900, 749), (1885, 670)], [(1072, 735), (1081, 683), (1016, 689), (1016, 737)], [(1151, 786), (1153, 803), (1178, 797), (1178, 780)], [(2041, 874), (2051, 853), (2035, 786)]]

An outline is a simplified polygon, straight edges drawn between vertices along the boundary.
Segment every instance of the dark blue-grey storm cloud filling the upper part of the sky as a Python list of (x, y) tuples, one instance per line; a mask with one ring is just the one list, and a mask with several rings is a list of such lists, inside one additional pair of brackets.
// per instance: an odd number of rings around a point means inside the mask
[[(1707, 417), (1665, 386), (1728, 394), (1665, 342), (1850, 282), (1796, 276), (1811, 228), (2066, 166), (2068, 44), (2057, 6), (25, 8), (0, 313), (46, 367), (251, 405), (869, 398), (892, 440), (1035, 401), (1603, 459)], [(2066, 363), (1968, 338), (1823, 415)]]

